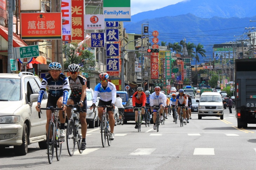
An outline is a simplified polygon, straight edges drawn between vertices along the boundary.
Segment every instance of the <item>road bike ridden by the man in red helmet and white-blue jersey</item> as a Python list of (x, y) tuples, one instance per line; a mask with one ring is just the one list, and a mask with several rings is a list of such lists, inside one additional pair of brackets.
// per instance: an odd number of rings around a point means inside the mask
[[(108, 146), (111, 145), (111, 140), (110, 140), (110, 125), (109, 125), (109, 120), (108, 120), (108, 112), (107, 108), (110, 108), (111, 106), (103, 105), (103, 106), (94, 106), (93, 107), (93, 112), (95, 108), (103, 108), (103, 114), (101, 116), (101, 142), (102, 142), (102, 147), (105, 148), (106, 146), (106, 141), (108, 141)], [(112, 108), (112, 112), (114, 113), (114, 108)]]

